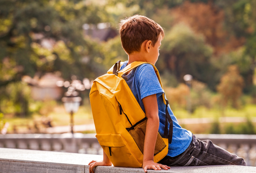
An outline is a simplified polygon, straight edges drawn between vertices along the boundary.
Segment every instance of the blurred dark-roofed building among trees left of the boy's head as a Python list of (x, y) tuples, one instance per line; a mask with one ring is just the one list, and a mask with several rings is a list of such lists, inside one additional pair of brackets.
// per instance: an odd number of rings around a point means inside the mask
[(110, 23), (98, 23), (98, 24), (83, 24), (84, 34), (91, 36), (94, 39), (100, 41), (107, 41), (108, 39), (117, 36), (118, 32), (116, 29), (111, 28)]

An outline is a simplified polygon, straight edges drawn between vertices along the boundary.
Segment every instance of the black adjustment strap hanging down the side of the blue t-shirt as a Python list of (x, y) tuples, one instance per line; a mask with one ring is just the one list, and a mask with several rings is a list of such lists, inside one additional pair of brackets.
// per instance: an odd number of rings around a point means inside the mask
[[(166, 101), (166, 107), (165, 107), (165, 127), (164, 127), (164, 138), (168, 138), (168, 143), (172, 143), (172, 138), (173, 138), (173, 120), (168, 112), (168, 100), (165, 99)], [(170, 123), (169, 126), (169, 133), (168, 133), (168, 122)]]

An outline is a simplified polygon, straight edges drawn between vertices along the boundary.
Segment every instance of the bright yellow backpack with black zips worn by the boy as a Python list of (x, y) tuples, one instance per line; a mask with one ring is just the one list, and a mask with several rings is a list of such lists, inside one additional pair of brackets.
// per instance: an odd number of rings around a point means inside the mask
[[(114, 166), (139, 168), (143, 164), (143, 148), (147, 117), (122, 75), (145, 62), (133, 62), (120, 71), (120, 61), (93, 82), (90, 102), (96, 137)], [(149, 63), (150, 64), (150, 63)], [(157, 68), (151, 64), (162, 87)], [(163, 87), (162, 87), (163, 88)], [(173, 122), (166, 104), (164, 138), (157, 134), (154, 162), (160, 161), (171, 143)], [(167, 124), (170, 123), (169, 134)]]

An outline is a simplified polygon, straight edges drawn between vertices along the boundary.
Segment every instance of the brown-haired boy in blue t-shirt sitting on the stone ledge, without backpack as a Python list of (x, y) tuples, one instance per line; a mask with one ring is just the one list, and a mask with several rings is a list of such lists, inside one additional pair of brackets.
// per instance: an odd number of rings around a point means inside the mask
[[(155, 64), (159, 56), (161, 40), (164, 37), (162, 27), (153, 20), (134, 15), (121, 20), (120, 37), (123, 49), (128, 54), (120, 70), (134, 61)], [(168, 154), (158, 163), (153, 161), (157, 132), (164, 135), (165, 104), (163, 90), (157, 79), (154, 68), (150, 64), (137, 66), (124, 74), (123, 79), (130, 87), (140, 107), (147, 117), (147, 127), (144, 141), (143, 169), (167, 170), (169, 166), (201, 166), (201, 165), (244, 165), (244, 159), (214, 145), (210, 140), (200, 141), (178, 124), (176, 117), (168, 106), (168, 112), (173, 120), (173, 138), (168, 145)], [(169, 127), (169, 125), (168, 125)], [(103, 152), (102, 161), (91, 161), (89, 172), (94, 172), (96, 166), (110, 166), (111, 161)]]

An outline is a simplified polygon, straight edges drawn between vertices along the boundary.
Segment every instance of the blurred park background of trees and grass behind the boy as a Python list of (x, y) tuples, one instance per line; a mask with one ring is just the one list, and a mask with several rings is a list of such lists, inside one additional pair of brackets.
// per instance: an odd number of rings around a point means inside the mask
[[(1, 0), (2, 137), (63, 134), (72, 124), (79, 134), (95, 133), (91, 85), (116, 61), (128, 60), (118, 23), (135, 14), (164, 28), (156, 67), (183, 128), (256, 134), (255, 0)], [(79, 109), (65, 111), (62, 97), (78, 96)], [(62, 145), (45, 150), (64, 151)], [(87, 148), (80, 152), (93, 151)], [(256, 160), (256, 146), (247, 148)]]

